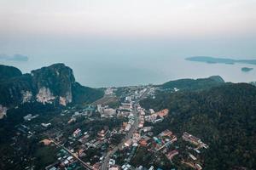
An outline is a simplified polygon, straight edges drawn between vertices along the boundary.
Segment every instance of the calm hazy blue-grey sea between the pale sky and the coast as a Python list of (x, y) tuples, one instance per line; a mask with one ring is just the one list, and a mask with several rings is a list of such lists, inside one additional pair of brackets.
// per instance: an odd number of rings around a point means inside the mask
[[(18, 44), (18, 45), (17, 45)], [(76, 80), (93, 88), (127, 86), (140, 84), (160, 84), (179, 78), (199, 78), (219, 75), (226, 82), (256, 81), (256, 65), (224, 65), (191, 62), (184, 58), (194, 55), (228, 57), (238, 54), (238, 48), (225, 51), (217, 43), (211, 48), (192, 42), (17, 42), (15, 48), (3, 48), (9, 54), (20, 53), (29, 56), (27, 62), (3, 61), (5, 65), (15, 65), (23, 72), (53, 63), (64, 63), (73, 69)], [(13, 46), (11, 46), (13, 47)], [(1, 49), (1, 48), (0, 48)], [(2, 51), (3, 51), (2, 49)], [(8, 50), (7, 50), (8, 49)], [(221, 49), (221, 50), (220, 50)], [(247, 54), (247, 56), (249, 56)], [(250, 59), (248, 57), (239, 59)], [(251, 58), (252, 59), (252, 58)], [(251, 67), (253, 71), (242, 72), (241, 67)]]

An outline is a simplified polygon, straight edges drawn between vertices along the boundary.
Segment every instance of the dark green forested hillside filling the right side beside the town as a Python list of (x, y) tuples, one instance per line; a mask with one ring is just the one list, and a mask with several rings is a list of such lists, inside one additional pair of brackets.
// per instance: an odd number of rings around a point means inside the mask
[(210, 148), (204, 169), (256, 168), (256, 88), (225, 83), (204, 91), (159, 94), (141, 102), (145, 108), (171, 113), (154, 133), (169, 128), (178, 136), (195, 134)]

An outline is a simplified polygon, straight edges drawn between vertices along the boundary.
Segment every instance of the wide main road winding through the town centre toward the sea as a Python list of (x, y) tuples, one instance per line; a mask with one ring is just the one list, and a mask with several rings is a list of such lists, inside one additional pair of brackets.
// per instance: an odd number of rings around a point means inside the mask
[[(143, 99), (147, 94), (148, 94), (149, 88), (144, 92), (144, 94), (140, 97), (140, 99)], [(101, 170), (108, 170), (108, 162), (110, 160), (110, 157), (113, 156), (113, 154), (122, 148), (122, 146), (125, 144), (125, 141), (127, 141), (128, 139), (131, 139), (133, 133), (136, 132), (137, 128), (138, 128), (138, 124), (139, 124), (139, 119), (138, 119), (138, 111), (137, 108), (135, 107), (135, 105), (137, 105), (140, 101), (140, 99), (137, 99), (137, 101), (135, 102), (135, 104), (133, 105), (133, 114), (135, 116), (135, 122), (133, 123), (133, 125), (131, 126), (130, 131), (125, 135), (125, 139), (123, 139), (117, 146), (115, 146), (113, 148), (113, 150), (108, 151), (107, 155), (104, 157), (104, 159), (102, 160), (102, 166), (101, 166)]]

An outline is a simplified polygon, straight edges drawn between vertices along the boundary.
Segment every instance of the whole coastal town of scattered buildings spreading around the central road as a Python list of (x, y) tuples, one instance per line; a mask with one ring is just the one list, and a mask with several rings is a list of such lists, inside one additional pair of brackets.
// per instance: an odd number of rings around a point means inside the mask
[[(38, 115), (28, 114), (17, 126), (14, 148), (20, 150), (20, 139), (39, 138), (40, 150), (51, 150), (52, 162), (45, 170), (203, 169), (201, 151), (209, 146), (196, 135), (177, 135), (170, 128), (155, 133), (154, 128), (172, 113), (167, 108), (146, 110), (139, 104), (141, 99), (154, 98), (155, 90), (150, 85), (106, 88), (105, 99), (80, 108), (69, 107), (47, 122), (38, 122)], [(118, 93), (117, 104), (105, 105)], [(30, 163), (25, 169), (34, 166)]]

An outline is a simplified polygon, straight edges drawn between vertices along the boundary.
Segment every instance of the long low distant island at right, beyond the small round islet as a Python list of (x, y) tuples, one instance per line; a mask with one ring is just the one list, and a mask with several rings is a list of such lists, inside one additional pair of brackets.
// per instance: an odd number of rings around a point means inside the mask
[(227, 59), (227, 58), (214, 58), (208, 56), (195, 56), (186, 58), (189, 61), (197, 61), (197, 62), (204, 62), (208, 64), (225, 64), (225, 65), (234, 65), (236, 63), (241, 64), (249, 64), (249, 65), (256, 65), (256, 59)]

